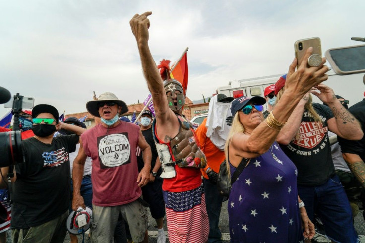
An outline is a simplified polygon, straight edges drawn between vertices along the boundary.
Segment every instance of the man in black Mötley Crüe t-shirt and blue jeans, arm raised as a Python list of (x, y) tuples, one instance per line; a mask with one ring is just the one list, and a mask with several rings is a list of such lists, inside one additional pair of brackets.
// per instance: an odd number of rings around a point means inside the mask
[[(276, 83), (278, 100), (284, 85), (285, 80)], [(328, 130), (351, 140), (360, 139), (363, 132), (332, 89), (323, 84), (316, 86), (316, 89), (320, 93), (314, 90), (311, 93), (328, 107), (312, 103), (310, 94), (306, 94), (281, 129), (277, 141), (297, 166), (298, 194), (310, 220), (314, 220), (316, 213), (331, 240), (356, 243), (358, 236), (353, 226), (350, 204), (332, 162)]]

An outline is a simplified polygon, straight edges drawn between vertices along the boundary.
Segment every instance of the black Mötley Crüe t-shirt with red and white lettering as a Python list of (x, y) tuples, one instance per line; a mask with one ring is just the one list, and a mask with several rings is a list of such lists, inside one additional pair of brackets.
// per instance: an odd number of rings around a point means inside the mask
[(334, 116), (327, 106), (313, 103), (313, 107), (322, 121), (315, 122), (312, 114), (305, 110), (299, 134), (289, 145), (280, 144), (285, 154), (297, 166), (299, 185), (321, 185), (335, 173), (327, 124)]

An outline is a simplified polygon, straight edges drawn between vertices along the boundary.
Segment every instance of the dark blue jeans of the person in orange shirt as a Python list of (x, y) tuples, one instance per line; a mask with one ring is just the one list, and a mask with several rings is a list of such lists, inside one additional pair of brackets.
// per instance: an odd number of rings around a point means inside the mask
[(219, 229), (219, 215), (221, 214), (223, 196), (218, 192), (217, 186), (208, 179), (203, 178), (205, 204), (209, 218), (208, 243), (222, 243), (222, 233)]

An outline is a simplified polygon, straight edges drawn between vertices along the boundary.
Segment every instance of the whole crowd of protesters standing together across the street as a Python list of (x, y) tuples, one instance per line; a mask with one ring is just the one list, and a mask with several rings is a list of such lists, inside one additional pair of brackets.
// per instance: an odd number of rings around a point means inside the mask
[[(0, 182), (11, 212), (0, 243), (10, 227), (14, 243), (63, 243), (69, 213), (86, 207), (91, 242), (148, 242), (149, 207), (158, 243), (167, 241), (165, 216), (171, 243), (219, 243), (224, 200), (233, 243), (310, 241), (317, 219), (333, 242), (360, 242), (359, 208), (348, 197), (353, 184), (364, 195), (364, 100), (348, 108), (322, 84), (325, 59), (309, 66), (309, 48), (263, 97), (213, 96), (195, 131), (183, 115), (186, 90), (152, 58), (149, 15), (136, 14), (130, 26), (155, 114), (142, 111), (140, 125), (125, 121), (128, 107), (111, 92), (86, 103), (90, 129), (74, 117), (59, 121), (49, 104), (23, 110), (24, 163), (15, 165), (11, 186)], [(228, 198), (216, 185), (222, 163), (238, 175)], [(2, 178), (8, 173), (1, 168)]]

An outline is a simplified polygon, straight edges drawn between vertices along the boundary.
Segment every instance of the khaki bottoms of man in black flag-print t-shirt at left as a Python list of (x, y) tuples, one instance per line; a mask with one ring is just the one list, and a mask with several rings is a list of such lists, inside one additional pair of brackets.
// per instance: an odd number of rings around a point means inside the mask
[(68, 210), (61, 216), (38, 226), (26, 229), (12, 229), (13, 243), (63, 243), (66, 237)]

